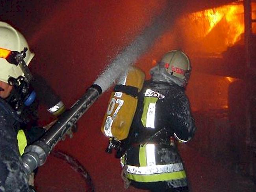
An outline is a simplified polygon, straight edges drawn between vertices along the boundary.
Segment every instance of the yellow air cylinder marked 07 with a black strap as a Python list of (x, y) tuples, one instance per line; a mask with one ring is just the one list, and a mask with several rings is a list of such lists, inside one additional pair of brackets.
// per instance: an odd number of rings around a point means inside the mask
[(128, 136), (137, 107), (137, 93), (141, 91), (145, 73), (131, 66), (111, 93), (101, 131), (117, 140)]

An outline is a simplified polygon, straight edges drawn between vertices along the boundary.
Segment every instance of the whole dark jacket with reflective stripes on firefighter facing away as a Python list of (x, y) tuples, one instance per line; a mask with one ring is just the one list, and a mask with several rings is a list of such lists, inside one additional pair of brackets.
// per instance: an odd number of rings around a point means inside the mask
[(121, 159), (126, 177), (143, 183), (166, 181), (174, 188), (187, 186), (182, 159), (170, 143), (174, 133), (187, 141), (195, 130), (184, 90), (146, 82), (140, 93), (131, 145)]

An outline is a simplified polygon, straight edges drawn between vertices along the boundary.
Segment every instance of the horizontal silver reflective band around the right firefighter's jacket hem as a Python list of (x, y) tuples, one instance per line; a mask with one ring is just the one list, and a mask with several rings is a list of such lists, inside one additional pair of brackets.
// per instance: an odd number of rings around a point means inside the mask
[(169, 165), (154, 165), (154, 166), (132, 166), (128, 165), (126, 171), (130, 174), (151, 175), (160, 173), (171, 173), (183, 171), (182, 163), (173, 163)]

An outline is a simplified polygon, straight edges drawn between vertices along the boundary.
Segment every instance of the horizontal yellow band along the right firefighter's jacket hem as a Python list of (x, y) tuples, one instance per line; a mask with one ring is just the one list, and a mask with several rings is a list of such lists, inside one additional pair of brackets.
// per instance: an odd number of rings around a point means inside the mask
[(126, 174), (128, 179), (132, 179), (137, 182), (156, 182), (156, 181), (168, 181), (175, 179), (185, 179), (185, 171), (177, 171), (172, 173), (162, 173), (162, 174), (153, 174), (153, 175), (137, 175), (137, 174)]

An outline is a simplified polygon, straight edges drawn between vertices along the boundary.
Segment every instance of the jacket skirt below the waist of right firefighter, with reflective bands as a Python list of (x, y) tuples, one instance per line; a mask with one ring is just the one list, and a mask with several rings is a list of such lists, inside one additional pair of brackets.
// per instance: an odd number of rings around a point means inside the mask
[[(162, 147), (157, 144), (145, 144), (138, 147), (139, 149), (133, 148), (133, 152), (128, 151), (122, 159), (128, 179), (137, 182), (173, 181), (175, 183), (174, 187), (187, 185), (184, 166), (176, 149), (172, 150), (172, 146)], [(139, 154), (136, 155), (134, 152), (139, 152)], [(175, 159), (170, 159), (171, 156), (164, 159), (163, 156), (167, 154), (173, 155)], [(131, 160), (135, 156), (137, 156), (139, 162)], [(163, 159), (163, 161), (161, 162), (160, 159)], [(168, 160), (170, 162), (175, 160), (179, 162), (162, 164)]]

